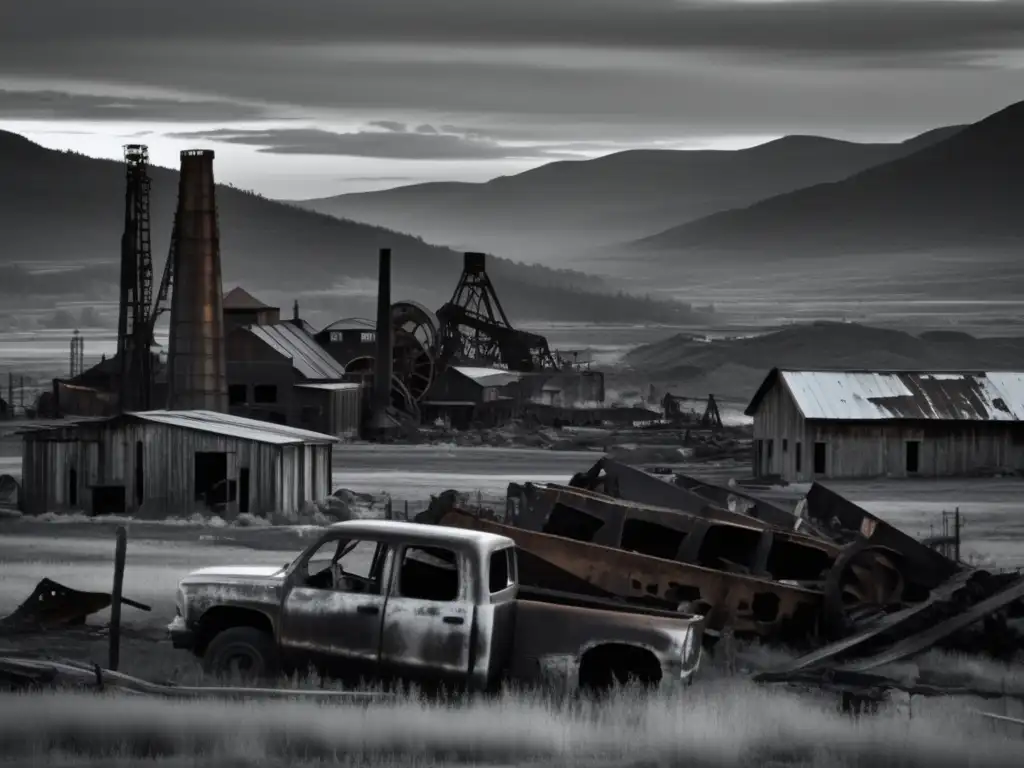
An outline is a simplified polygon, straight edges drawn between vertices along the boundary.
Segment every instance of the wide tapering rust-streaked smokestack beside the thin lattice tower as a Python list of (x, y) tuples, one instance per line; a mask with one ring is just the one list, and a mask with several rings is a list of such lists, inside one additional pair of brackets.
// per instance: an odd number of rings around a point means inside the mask
[(226, 412), (220, 231), (210, 150), (181, 153), (173, 237), (167, 407)]

